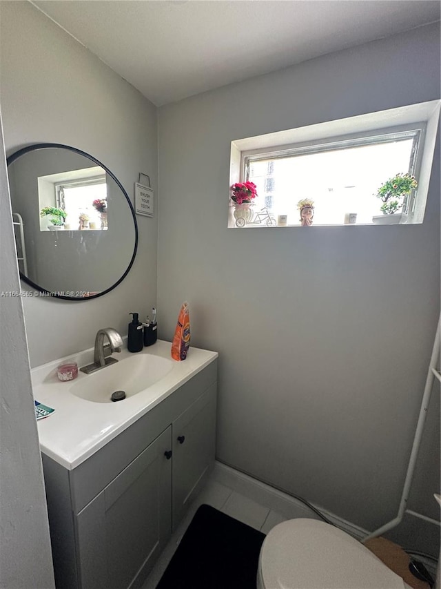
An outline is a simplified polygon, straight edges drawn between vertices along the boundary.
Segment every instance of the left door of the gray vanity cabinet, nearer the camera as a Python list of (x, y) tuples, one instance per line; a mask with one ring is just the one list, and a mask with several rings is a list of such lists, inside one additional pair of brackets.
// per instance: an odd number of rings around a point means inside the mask
[(170, 537), (172, 427), (77, 516), (81, 589), (140, 587)]

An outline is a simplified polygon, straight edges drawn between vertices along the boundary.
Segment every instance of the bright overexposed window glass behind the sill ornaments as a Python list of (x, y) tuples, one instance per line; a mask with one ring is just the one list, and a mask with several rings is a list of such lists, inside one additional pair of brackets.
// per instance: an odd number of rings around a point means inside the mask
[[(314, 224), (343, 224), (347, 213), (357, 222), (372, 222), (382, 202), (382, 182), (397, 173), (415, 173), (422, 130), (293, 148), (245, 157), (245, 178), (257, 186), (256, 208), (287, 215), (300, 224), (297, 203), (314, 200)], [(407, 212), (410, 202), (404, 204)]]

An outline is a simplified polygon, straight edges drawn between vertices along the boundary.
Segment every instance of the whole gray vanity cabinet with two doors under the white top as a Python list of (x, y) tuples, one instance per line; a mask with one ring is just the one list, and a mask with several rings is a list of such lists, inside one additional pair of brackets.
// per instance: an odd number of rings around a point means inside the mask
[(214, 360), (73, 470), (42, 454), (57, 589), (143, 585), (214, 464), (216, 378)]

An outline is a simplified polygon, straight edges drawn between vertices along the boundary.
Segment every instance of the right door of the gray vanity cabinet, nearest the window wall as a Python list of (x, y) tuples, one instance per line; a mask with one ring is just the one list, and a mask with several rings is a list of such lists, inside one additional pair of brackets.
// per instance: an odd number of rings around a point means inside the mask
[(216, 389), (214, 383), (172, 424), (174, 530), (214, 464)]

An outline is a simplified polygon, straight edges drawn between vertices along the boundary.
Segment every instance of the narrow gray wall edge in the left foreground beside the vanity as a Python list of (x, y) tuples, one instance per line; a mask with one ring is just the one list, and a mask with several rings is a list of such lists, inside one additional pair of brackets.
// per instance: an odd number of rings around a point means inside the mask
[[(19, 291), (0, 117), (0, 291)], [(0, 298), (0, 588), (51, 589), (52, 554), (19, 297)], [(17, 361), (18, 360), (18, 361)]]

